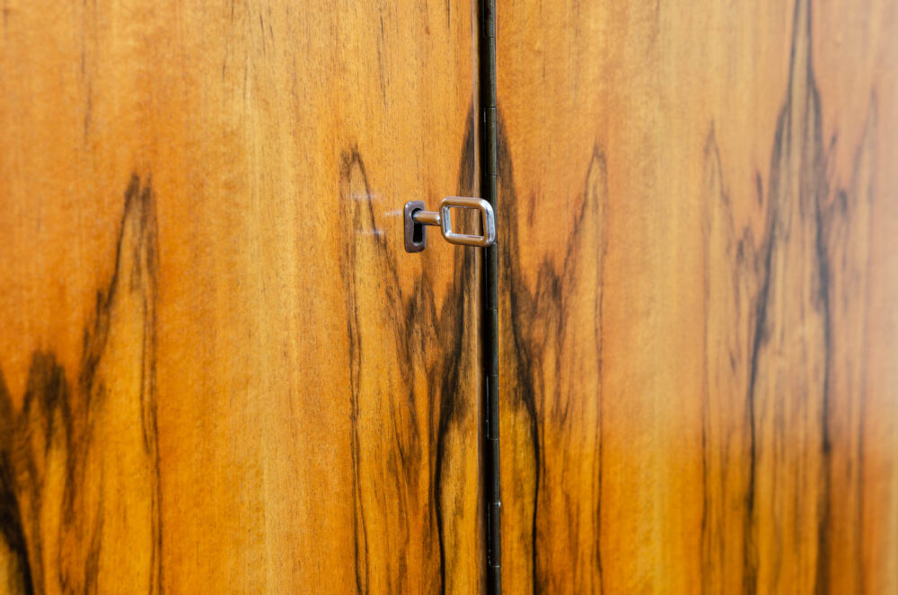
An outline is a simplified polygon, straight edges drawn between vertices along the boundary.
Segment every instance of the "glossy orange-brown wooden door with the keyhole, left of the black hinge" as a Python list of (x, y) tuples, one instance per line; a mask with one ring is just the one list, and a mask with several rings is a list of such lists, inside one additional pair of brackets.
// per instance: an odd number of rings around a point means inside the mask
[(6, 2), (0, 591), (476, 592), (468, 2)]

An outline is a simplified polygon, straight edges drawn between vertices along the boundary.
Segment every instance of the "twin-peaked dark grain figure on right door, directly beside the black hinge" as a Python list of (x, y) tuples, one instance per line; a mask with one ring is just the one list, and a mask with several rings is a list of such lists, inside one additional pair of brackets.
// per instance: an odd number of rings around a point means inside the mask
[[(502, 120), (499, 125), (499, 217), (509, 222), (499, 258), (500, 307), (507, 312), (501, 354), (503, 420), (508, 420), (515, 450), (503, 502), (516, 524), (506, 556), (530, 544), (529, 572), (534, 592), (601, 591), (601, 544), (583, 540), (601, 525), (602, 490), (602, 267), (603, 213), (607, 171), (594, 147), (582, 192), (570, 197), (573, 220), (567, 228), (563, 260), (537, 267), (533, 292), (522, 282), (523, 265), (516, 222), (514, 166)], [(540, 203), (540, 197), (534, 202)], [(568, 481), (592, 486), (572, 494)], [(564, 522), (559, 523), (557, 517)], [(521, 521), (524, 521), (521, 523)], [(541, 544), (551, 544), (541, 547)], [(507, 552), (511, 553), (507, 553)], [(520, 564), (519, 562), (517, 564)], [(577, 573), (552, 572), (573, 564)]]

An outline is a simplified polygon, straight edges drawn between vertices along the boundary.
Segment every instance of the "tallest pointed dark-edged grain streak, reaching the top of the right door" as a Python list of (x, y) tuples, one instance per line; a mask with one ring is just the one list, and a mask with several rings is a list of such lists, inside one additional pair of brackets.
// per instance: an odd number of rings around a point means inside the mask
[(819, 545), (808, 536), (818, 534), (824, 515), (829, 337), (818, 209), (826, 179), (809, 10), (795, 4), (787, 99), (770, 155), (770, 239), (749, 364), (750, 592), (814, 590)]

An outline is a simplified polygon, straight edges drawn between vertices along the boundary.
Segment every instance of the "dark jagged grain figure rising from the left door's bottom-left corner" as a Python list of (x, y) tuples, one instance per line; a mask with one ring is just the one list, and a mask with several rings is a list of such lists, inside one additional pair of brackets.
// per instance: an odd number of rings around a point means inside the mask
[(22, 561), (22, 592), (110, 590), (119, 572), (134, 592), (160, 589), (155, 242), (153, 190), (135, 175), (80, 369), (70, 377), (53, 353), (38, 352), (22, 408), (4, 383), (0, 390), (4, 509), (13, 521), (4, 536)]

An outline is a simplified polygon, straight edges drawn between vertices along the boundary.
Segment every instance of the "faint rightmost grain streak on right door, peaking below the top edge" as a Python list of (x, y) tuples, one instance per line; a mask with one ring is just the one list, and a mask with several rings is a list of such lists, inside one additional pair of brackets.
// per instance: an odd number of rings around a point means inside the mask
[(821, 527), (818, 583), (829, 592), (870, 592), (865, 580), (865, 526), (862, 437), (867, 418), (869, 359), (869, 279), (872, 212), (876, 188), (876, 97), (859, 140), (850, 179), (835, 185), (821, 209), (826, 252), (830, 320), (825, 415), (825, 524)]

